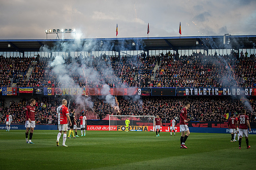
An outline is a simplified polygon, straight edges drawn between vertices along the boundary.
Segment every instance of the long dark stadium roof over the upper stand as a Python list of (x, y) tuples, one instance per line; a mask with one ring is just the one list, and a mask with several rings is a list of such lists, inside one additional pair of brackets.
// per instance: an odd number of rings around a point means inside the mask
[[(226, 44), (223, 44), (223, 37)], [(228, 44), (228, 39), (230, 43)], [(198, 42), (198, 44), (197, 44)], [(253, 49), (256, 35), (194, 36), (194, 37), (141, 37), (105, 39), (22, 39), (0, 40), (0, 52), (39, 52), (41, 47), (51, 51), (120, 51), (120, 50), (179, 50), (179, 49)], [(42, 51), (42, 50), (41, 50)]]

